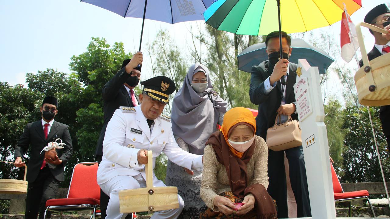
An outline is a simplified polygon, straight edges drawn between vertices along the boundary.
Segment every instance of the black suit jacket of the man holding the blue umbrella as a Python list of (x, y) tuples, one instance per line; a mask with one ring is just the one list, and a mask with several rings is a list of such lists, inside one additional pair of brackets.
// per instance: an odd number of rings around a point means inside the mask
[[(133, 107), (133, 101), (131, 101), (130, 95), (127, 92), (123, 84), (130, 77), (130, 74), (126, 73), (125, 68), (122, 68), (118, 73), (114, 75), (103, 87), (103, 112), (104, 123), (101, 129), (99, 140), (97, 141), (95, 157), (97, 155), (103, 155), (103, 140), (106, 133), (107, 124), (110, 121), (115, 110), (122, 107)], [(138, 103), (138, 96), (135, 96)]]

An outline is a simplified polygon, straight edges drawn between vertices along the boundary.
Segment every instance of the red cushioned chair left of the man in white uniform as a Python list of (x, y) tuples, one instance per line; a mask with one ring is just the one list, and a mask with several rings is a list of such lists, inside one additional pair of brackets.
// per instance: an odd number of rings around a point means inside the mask
[(96, 210), (100, 210), (100, 187), (96, 181), (97, 162), (83, 162), (74, 166), (67, 198), (49, 199), (46, 201), (46, 212), (60, 213), (73, 211), (93, 210), (91, 219), (99, 217)]

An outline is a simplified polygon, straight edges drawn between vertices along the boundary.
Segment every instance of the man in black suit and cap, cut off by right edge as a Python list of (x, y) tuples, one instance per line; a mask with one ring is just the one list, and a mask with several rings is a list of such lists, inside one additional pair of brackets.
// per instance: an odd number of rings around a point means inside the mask
[[(367, 53), (369, 61), (390, 52), (390, 22), (387, 20), (390, 18), (390, 11), (385, 4), (380, 4), (367, 13), (364, 17), (365, 23), (371, 23), (380, 28), (388, 30), (388, 34), (381, 34), (370, 30), (371, 34), (375, 37), (374, 48)], [(359, 61), (360, 67), (363, 66), (363, 61)], [(381, 119), (383, 134), (387, 139), (387, 146), (390, 150), (390, 105), (381, 106), (379, 109), (379, 118)]]

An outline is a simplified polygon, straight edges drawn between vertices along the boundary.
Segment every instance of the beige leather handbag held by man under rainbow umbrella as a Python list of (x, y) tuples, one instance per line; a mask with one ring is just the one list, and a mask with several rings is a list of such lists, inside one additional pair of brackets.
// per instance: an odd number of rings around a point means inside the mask
[(268, 128), (267, 131), (267, 146), (273, 151), (282, 151), (290, 148), (295, 148), (302, 145), (301, 133), (298, 120), (293, 120), (291, 116), (285, 123), (280, 123), (279, 114), (275, 118), (275, 125)]

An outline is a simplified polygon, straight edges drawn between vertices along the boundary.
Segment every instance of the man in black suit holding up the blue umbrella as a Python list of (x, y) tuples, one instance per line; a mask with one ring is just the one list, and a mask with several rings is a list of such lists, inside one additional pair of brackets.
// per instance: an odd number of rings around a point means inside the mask
[[(106, 133), (107, 124), (115, 110), (122, 107), (135, 107), (138, 105), (138, 96), (135, 96), (134, 87), (138, 85), (141, 77), (142, 53), (137, 52), (131, 59), (122, 62), (122, 68), (103, 87), (103, 112), (104, 123), (101, 129), (99, 140), (96, 145), (95, 158), (100, 164), (103, 158), (103, 140)], [(100, 190), (101, 217), (106, 217), (106, 209), (110, 197)]]

